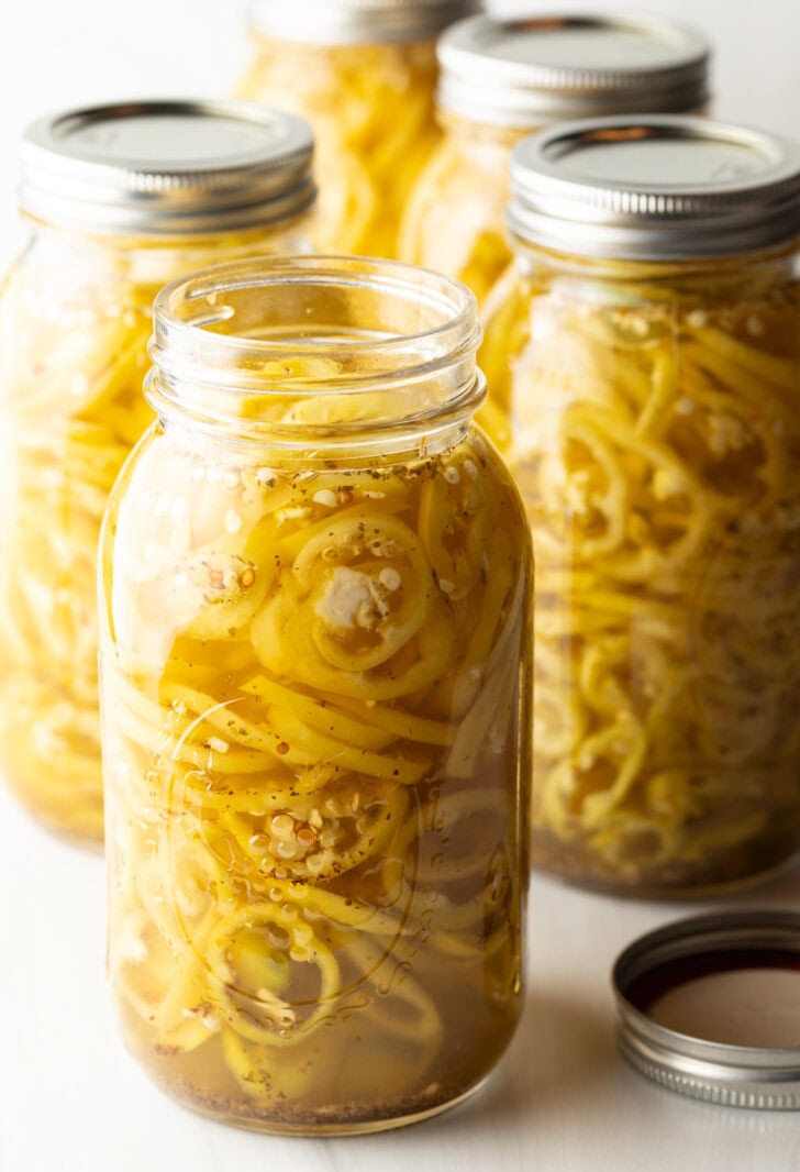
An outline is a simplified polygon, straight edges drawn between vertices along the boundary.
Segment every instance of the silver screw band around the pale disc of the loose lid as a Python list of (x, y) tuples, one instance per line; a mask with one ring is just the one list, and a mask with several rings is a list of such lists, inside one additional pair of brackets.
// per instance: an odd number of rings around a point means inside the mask
[[(679, 988), (697, 975), (738, 970), (747, 979), (772, 966), (793, 970), (800, 981), (800, 914), (723, 912), (679, 920), (642, 936), (614, 967), (622, 1054), (649, 1078), (691, 1098), (726, 1106), (799, 1110), (799, 1047), (707, 1041), (650, 1016), (664, 989)], [(754, 986), (752, 996), (758, 996)], [(736, 1029), (733, 1016), (731, 1023)]]

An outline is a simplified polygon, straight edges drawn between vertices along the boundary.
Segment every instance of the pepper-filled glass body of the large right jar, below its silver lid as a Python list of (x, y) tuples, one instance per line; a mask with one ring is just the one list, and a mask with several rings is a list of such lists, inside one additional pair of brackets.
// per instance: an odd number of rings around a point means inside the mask
[(737, 885), (800, 845), (798, 288), (554, 282), (481, 354), (536, 552), (534, 858)]

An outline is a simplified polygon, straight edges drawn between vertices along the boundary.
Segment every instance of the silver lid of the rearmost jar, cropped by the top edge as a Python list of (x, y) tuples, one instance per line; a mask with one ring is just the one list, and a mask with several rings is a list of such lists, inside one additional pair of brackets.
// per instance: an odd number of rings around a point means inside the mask
[(425, 41), (480, 0), (252, 0), (251, 27), (268, 36), (315, 45)]

